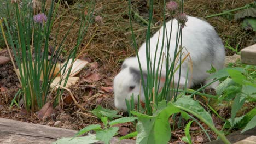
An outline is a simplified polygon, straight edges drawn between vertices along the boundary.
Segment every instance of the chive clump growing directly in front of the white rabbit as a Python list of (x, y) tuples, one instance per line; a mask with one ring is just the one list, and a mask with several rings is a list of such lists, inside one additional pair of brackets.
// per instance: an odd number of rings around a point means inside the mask
[[(178, 10), (178, 4), (174, 1), (171, 1), (166, 4), (166, 1), (163, 1), (163, 4), (166, 5), (166, 8), (163, 9), (164, 14), (168, 14), (171, 17), (171, 27), (166, 27), (166, 15), (163, 16), (163, 27), (161, 29), (163, 35), (162, 35), (162, 41), (161, 45), (159, 44), (159, 39), (156, 44), (156, 48), (153, 53), (154, 56), (152, 56), (152, 52), (150, 52), (150, 28), (152, 26), (152, 19), (153, 19), (153, 0), (149, 0), (149, 19), (148, 19), (148, 28), (146, 33), (146, 63), (147, 63), (147, 82), (145, 82), (143, 79), (141, 80), (142, 83), (142, 91), (144, 91), (145, 95), (145, 112), (148, 115), (152, 115), (152, 104), (158, 104), (159, 101), (166, 100), (170, 101), (172, 99), (176, 100), (176, 97), (178, 95), (178, 89), (179, 84), (174, 87), (174, 81), (173, 76), (176, 71), (181, 71), (181, 67), (179, 67), (182, 64), (182, 28), (185, 26), (185, 22), (187, 21), (186, 15), (183, 13), (183, 1), (180, 2), (180, 10)], [(135, 40), (135, 34), (133, 33), (132, 28), (132, 7), (131, 7), (131, 1), (129, 0), (129, 15), (130, 15), (130, 26), (131, 26), (131, 32), (132, 32), (132, 39), (133, 44), (136, 50), (136, 55), (139, 62), (139, 69), (141, 70), (142, 74), (142, 59), (138, 56), (138, 47), (136, 45)], [(177, 16), (178, 25), (177, 27), (173, 26), (173, 18)], [(176, 26), (176, 25), (175, 25)], [(172, 29), (176, 28), (176, 44), (175, 44), (175, 50), (173, 52), (170, 52), (170, 41), (173, 37)], [(167, 29), (170, 29), (170, 34), (167, 34)], [(166, 40), (166, 41), (165, 41)], [(164, 45), (166, 43), (166, 45)], [(156, 53), (160, 50), (160, 56), (156, 57)], [(173, 59), (171, 59), (173, 57)], [(165, 65), (163, 65), (163, 61), (165, 61)], [(165, 72), (162, 71), (162, 69), (165, 69)], [(160, 90), (160, 75), (165, 73), (166, 79), (164, 81), (164, 85)], [(177, 74), (176, 74), (177, 75)], [(180, 75), (180, 73), (178, 74)], [(143, 77), (143, 76), (142, 76)], [(178, 83), (180, 81), (180, 76), (178, 79)], [(173, 91), (170, 92), (170, 87), (173, 87)], [(138, 98), (139, 101), (139, 98)], [(127, 109), (129, 110), (131, 105), (133, 105), (133, 99), (131, 99), (131, 103), (127, 103)], [(138, 109), (140, 109), (141, 105), (138, 104)]]

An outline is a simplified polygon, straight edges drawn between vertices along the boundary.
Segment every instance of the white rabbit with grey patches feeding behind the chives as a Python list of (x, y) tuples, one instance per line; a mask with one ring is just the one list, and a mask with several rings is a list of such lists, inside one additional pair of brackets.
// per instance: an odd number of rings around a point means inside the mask
[[(177, 32), (177, 20), (173, 19), (171, 42), (170, 42), (170, 61), (173, 61), (173, 55), (176, 44), (176, 32)], [(211, 65), (217, 70), (224, 67), (225, 50), (222, 40), (214, 28), (206, 21), (197, 19), (196, 17), (188, 16), (188, 21), (185, 23), (185, 27), (182, 32), (182, 52), (190, 53), (191, 61), (193, 64), (193, 72), (190, 71), (189, 61), (187, 57), (181, 67), (181, 79), (180, 86), (185, 86), (185, 80), (188, 72), (188, 81), (191, 78), (188, 88), (199, 83), (210, 83), (212, 80), (208, 80), (210, 77), (207, 70), (211, 69)], [(166, 23), (167, 35), (170, 37), (171, 21)], [(156, 32), (152, 38), (150, 38), (150, 57), (154, 59), (156, 45), (158, 43), (158, 51), (156, 52), (156, 61), (160, 57), (160, 49), (163, 39), (163, 27)], [(159, 42), (158, 42), (159, 39)], [(165, 31), (164, 47), (167, 46), (167, 37)], [(163, 50), (166, 55), (166, 48)], [(143, 78), (147, 81), (147, 63), (146, 63), (146, 43), (143, 43), (139, 49), (138, 56), (141, 61), (141, 67), (143, 71)], [(182, 55), (184, 57), (185, 55)], [(165, 57), (164, 57), (165, 58)], [(163, 62), (162, 71), (165, 71), (165, 61)], [(174, 83), (178, 82), (179, 71), (176, 71), (174, 75)], [(165, 79), (165, 72), (160, 74), (160, 77)], [(140, 99), (144, 101), (143, 87), (140, 84), (141, 74), (139, 71), (139, 64), (137, 57), (130, 57), (123, 62), (121, 71), (114, 78), (114, 104), (117, 109), (126, 110), (125, 99), (131, 99), (131, 95), (134, 94), (135, 103), (137, 103), (137, 95), (140, 95)], [(189, 83), (189, 82), (188, 82)], [(210, 88), (216, 88), (218, 82), (212, 83)], [(160, 85), (161, 86), (161, 85)]]

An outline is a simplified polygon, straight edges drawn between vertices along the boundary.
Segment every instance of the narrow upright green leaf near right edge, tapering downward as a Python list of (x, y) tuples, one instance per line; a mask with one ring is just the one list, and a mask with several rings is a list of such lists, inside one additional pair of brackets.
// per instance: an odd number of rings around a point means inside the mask
[(242, 97), (242, 95), (236, 95), (234, 102), (232, 104), (232, 108), (231, 108), (231, 125), (235, 125), (234, 123), (234, 119), (236, 116), (236, 113), (238, 110), (241, 109), (241, 107), (243, 106), (243, 104), (245, 103), (245, 97)]

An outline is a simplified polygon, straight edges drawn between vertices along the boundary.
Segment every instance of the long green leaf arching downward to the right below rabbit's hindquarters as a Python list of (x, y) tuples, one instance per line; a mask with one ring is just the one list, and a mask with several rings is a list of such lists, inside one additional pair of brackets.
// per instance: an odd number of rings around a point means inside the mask
[(183, 95), (183, 97), (178, 98), (177, 101), (174, 102), (174, 105), (179, 109), (192, 113), (194, 116), (201, 119), (201, 121), (214, 125), (211, 115), (194, 99)]

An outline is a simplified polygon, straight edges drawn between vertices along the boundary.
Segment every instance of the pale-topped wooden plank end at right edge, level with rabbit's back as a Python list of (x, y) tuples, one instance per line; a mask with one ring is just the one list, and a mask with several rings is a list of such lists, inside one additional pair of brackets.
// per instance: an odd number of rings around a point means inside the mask
[(241, 61), (244, 64), (256, 65), (256, 44), (241, 50)]

